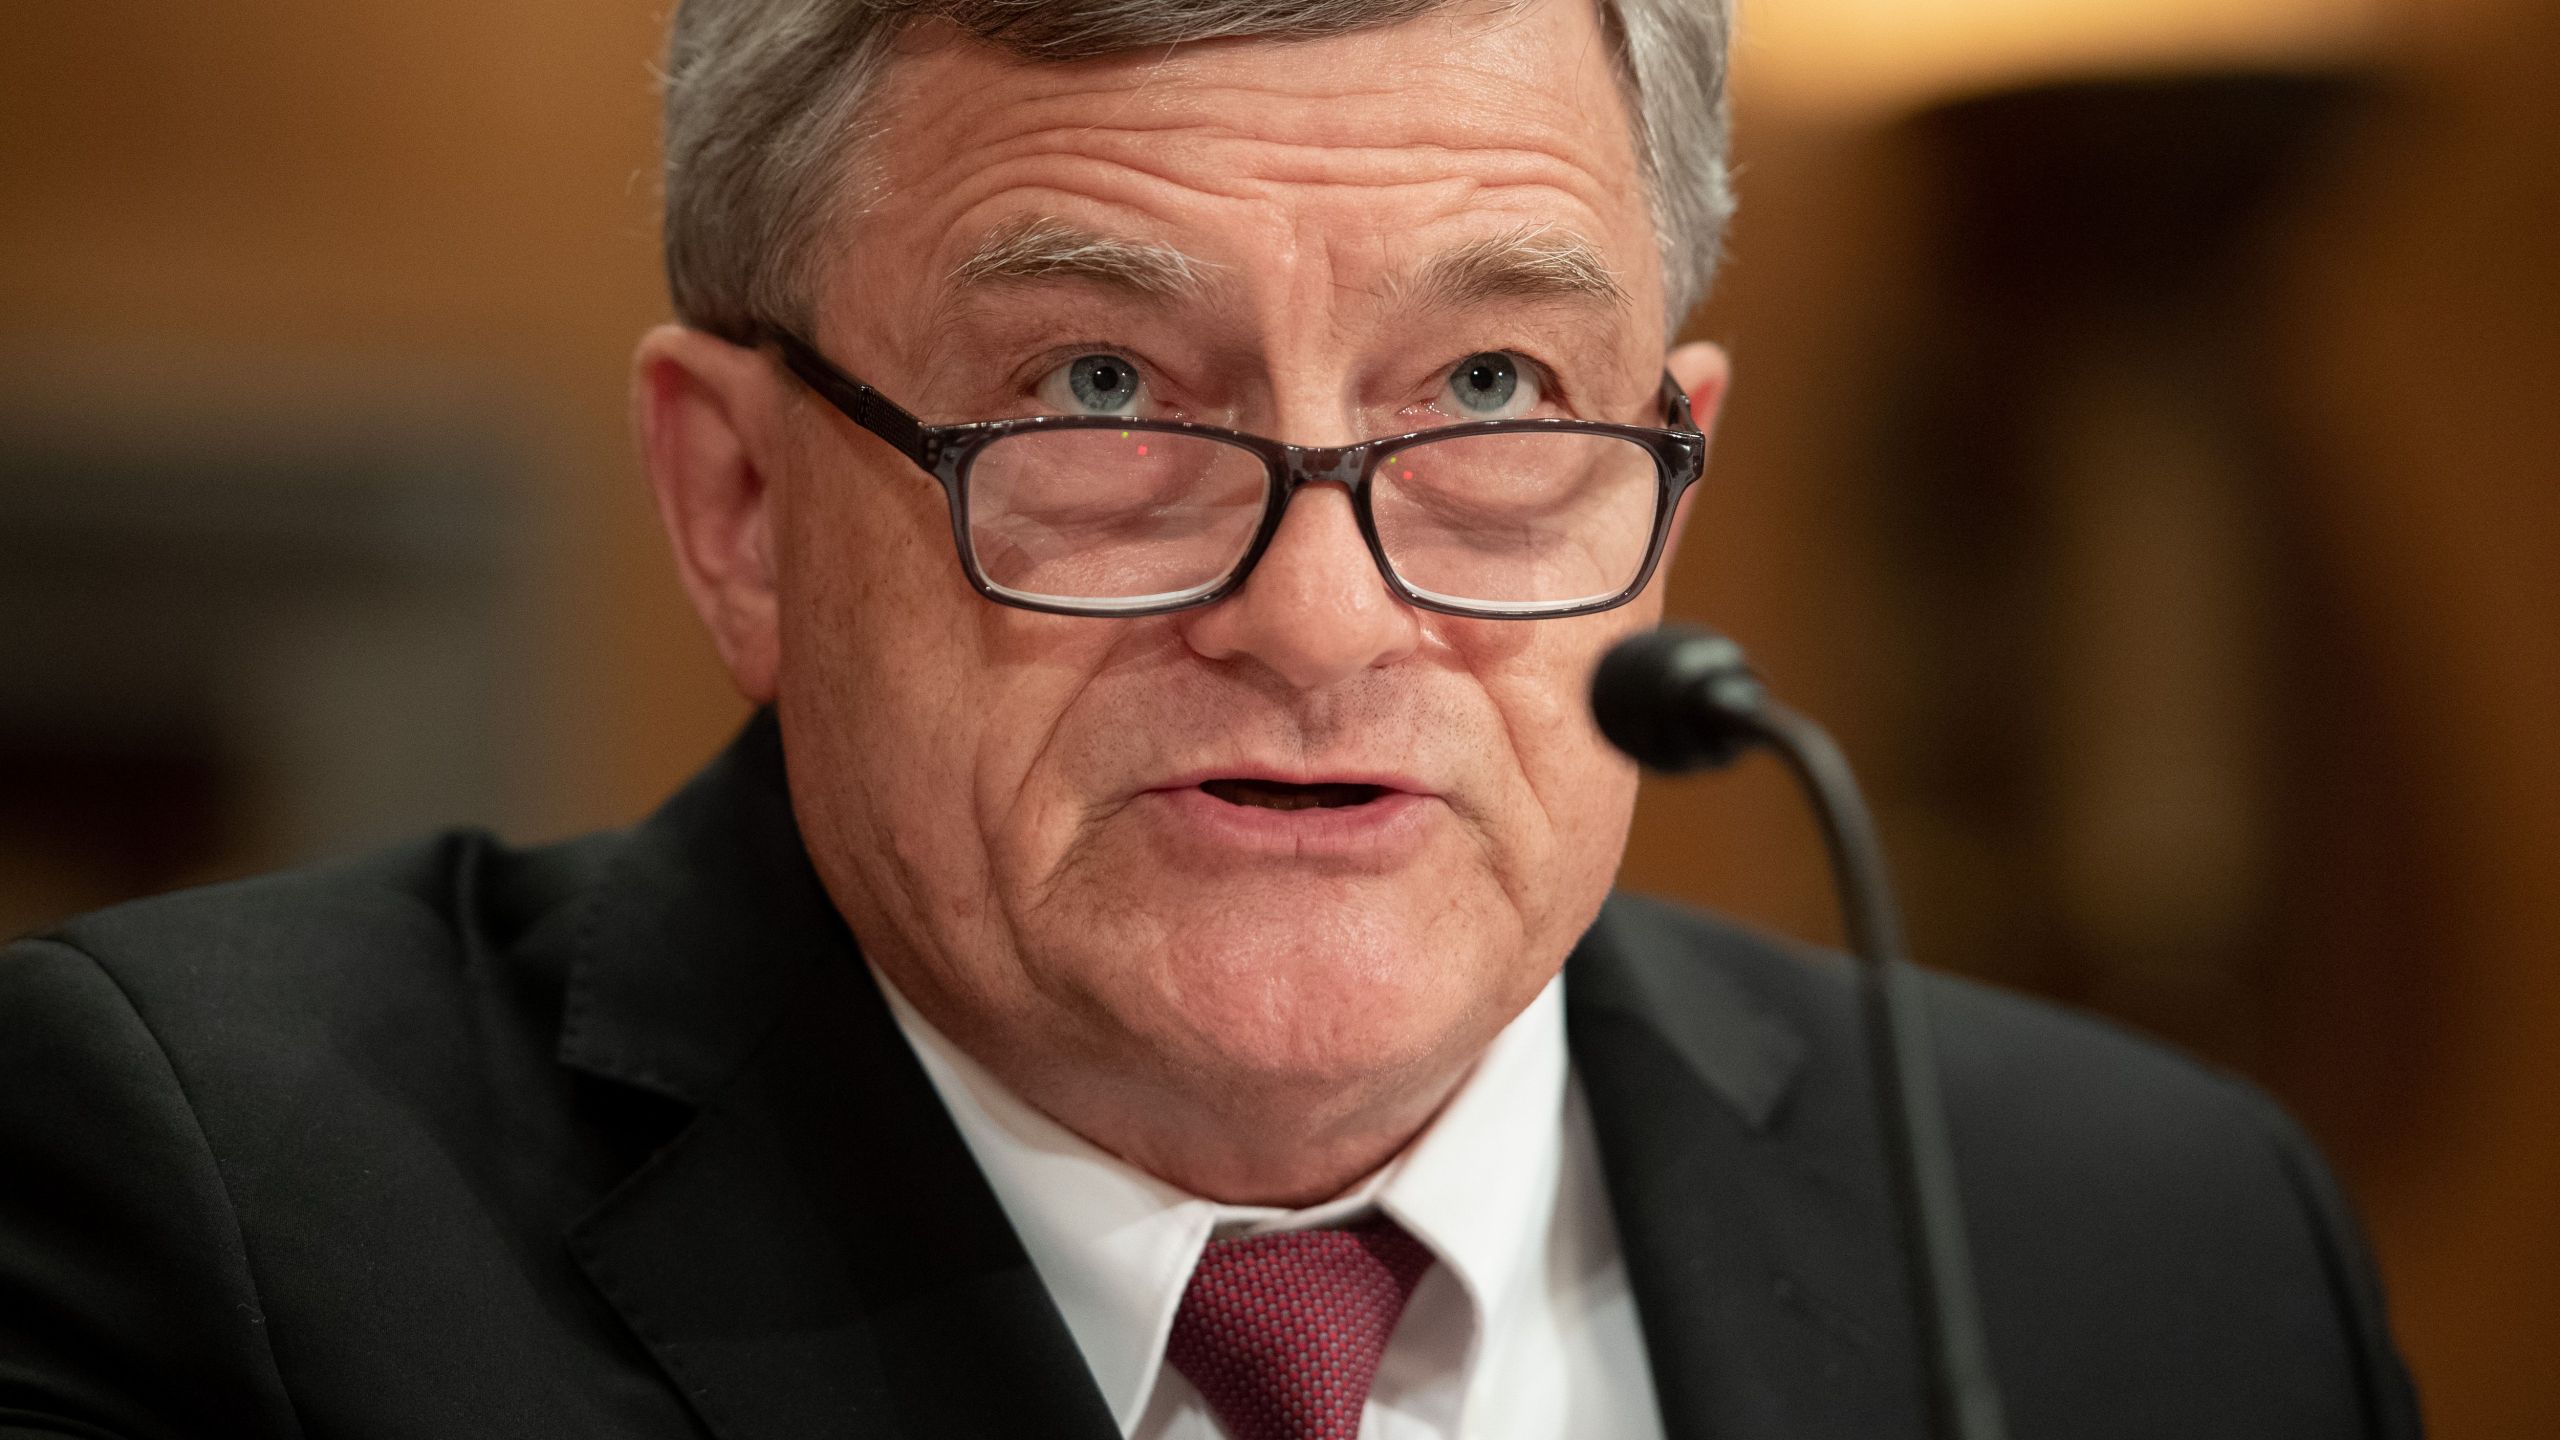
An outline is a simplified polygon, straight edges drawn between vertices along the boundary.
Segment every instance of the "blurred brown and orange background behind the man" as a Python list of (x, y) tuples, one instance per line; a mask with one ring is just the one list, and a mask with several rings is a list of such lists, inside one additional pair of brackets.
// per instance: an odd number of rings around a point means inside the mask
[[(658, 10), (13, 10), (0, 933), (627, 822), (740, 720), (625, 423)], [(2560, 5), (1743, 26), (1674, 612), (1838, 730), (1925, 961), (2268, 1084), (2435, 1432), (2560, 1435)], [(1766, 764), (1628, 881), (1833, 933)]]

